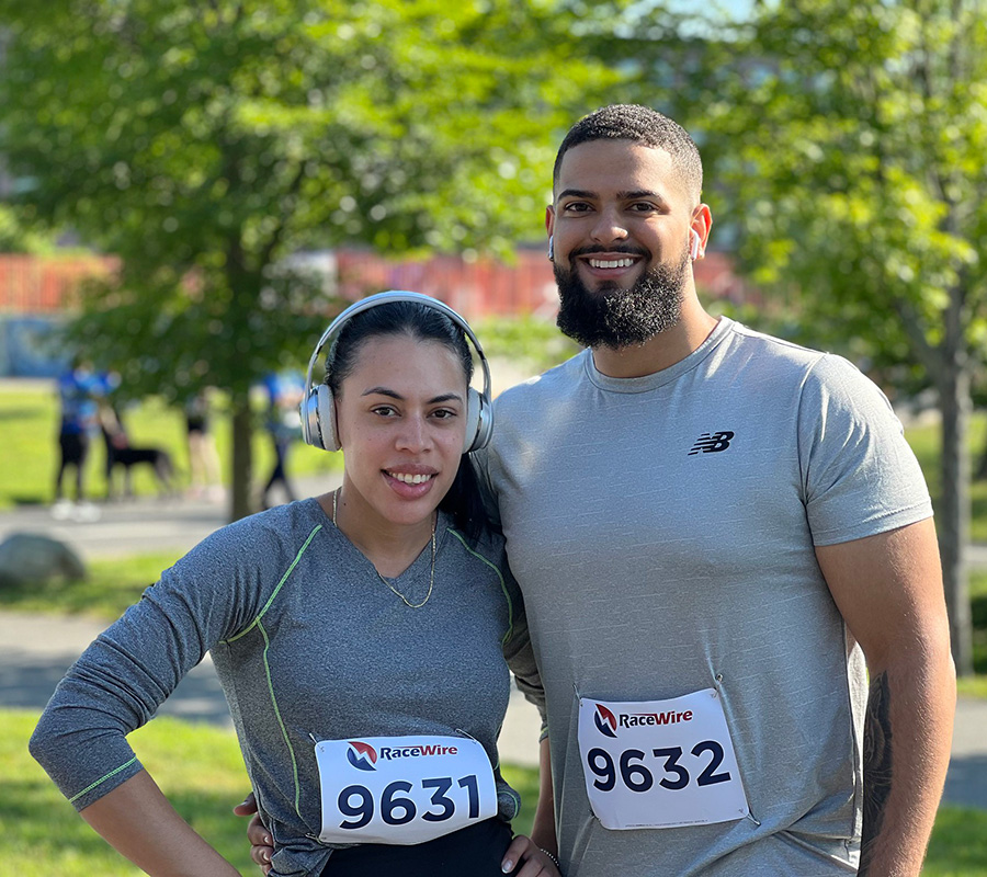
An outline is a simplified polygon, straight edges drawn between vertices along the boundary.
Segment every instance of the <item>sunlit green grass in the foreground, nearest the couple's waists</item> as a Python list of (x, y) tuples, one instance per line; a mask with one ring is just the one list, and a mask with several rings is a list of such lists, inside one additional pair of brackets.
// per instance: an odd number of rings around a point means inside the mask
[[(36, 720), (35, 713), (0, 710), (0, 862), (16, 863), (19, 877), (140, 874), (76, 816), (27, 754)], [(257, 877), (247, 853), (246, 822), (230, 812), (248, 789), (232, 733), (161, 717), (133, 733), (131, 742), (175, 809), (245, 877)], [(503, 774), (521, 793), (514, 829), (527, 832), (537, 802), (536, 771), (506, 765)], [(922, 874), (987, 877), (987, 812), (942, 808)]]

